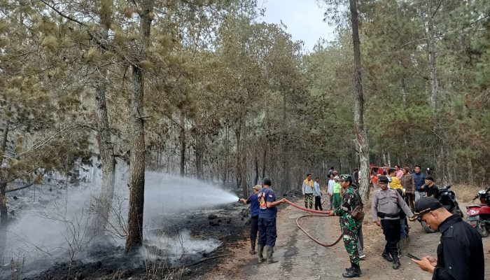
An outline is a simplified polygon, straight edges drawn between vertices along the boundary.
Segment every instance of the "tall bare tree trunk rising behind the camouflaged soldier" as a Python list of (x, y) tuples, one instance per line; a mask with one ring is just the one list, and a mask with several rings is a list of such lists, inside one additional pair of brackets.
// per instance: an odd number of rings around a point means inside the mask
[(364, 201), (369, 195), (369, 143), (364, 127), (364, 91), (360, 66), (360, 39), (357, 0), (349, 0), (351, 10), (352, 41), (354, 55), (354, 70), (356, 80), (356, 98), (354, 99), (354, 130), (356, 131), (357, 149), (360, 162), (360, 195)]

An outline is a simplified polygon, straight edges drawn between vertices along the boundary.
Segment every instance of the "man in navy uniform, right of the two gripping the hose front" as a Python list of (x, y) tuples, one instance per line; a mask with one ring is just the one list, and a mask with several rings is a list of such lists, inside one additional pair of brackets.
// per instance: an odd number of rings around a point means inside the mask
[(276, 246), (276, 217), (277, 217), (277, 205), (286, 202), (286, 198), (276, 201), (276, 194), (274, 190), (270, 188), (272, 185), (270, 179), (265, 178), (262, 181), (262, 190), (257, 194), (259, 201), (258, 212), (258, 263), (264, 262), (264, 246), (267, 253), (267, 264), (277, 262), (272, 257), (274, 253), (274, 246)]

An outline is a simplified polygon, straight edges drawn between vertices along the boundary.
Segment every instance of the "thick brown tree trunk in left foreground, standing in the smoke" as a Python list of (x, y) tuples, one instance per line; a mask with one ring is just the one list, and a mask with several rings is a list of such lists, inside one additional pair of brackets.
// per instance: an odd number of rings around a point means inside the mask
[(144, 131), (144, 71), (139, 61), (146, 58), (150, 45), (153, 19), (153, 1), (142, 1), (139, 12), (141, 34), (139, 57), (132, 65), (131, 99), (131, 157), (130, 157), (130, 209), (127, 214), (126, 251), (135, 251), (143, 242), (143, 209), (145, 194), (145, 131)]

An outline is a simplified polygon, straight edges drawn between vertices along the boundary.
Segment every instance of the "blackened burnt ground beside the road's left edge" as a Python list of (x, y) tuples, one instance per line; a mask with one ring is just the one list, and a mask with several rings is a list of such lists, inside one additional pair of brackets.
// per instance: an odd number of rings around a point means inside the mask
[(222, 242), (211, 253), (184, 254), (172, 263), (166, 260), (165, 250), (155, 246), (144, 246), (147, 250), (145, 255), (153, 256), (149, 259), (141, 252), (127, 255), (122, 246), (102, 242), (94, 246), (84, 260), (75, 260), (71, 264), (69, 261), (56, 262), (47, 269), (40, 261), (37, 268), (41, 272), (30, 275), (26, 271), (29, 269), (22, 268), (20, 264), (13, 269), (3, 267), (0, 279), (205, 279), (203, 277), (209, 272), (209, 267), (222, 261), (221, 255), (233, 253), (239, 248), (236, 244), (247, 239), (248, 219), (247, 207), (238, 203), (219, 209), (162, 216), (165, 227), (154, 230), (153, 234), (165, 232), (172, 236), (188, 231), (195, 239), (214, 238)]

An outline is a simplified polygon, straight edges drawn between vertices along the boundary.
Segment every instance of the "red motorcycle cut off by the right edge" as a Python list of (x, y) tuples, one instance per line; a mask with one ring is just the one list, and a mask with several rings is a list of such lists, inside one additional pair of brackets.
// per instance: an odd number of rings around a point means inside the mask
[(481, 204), (472, 204), (466, 207), (468, 223), (472, 225), (481, 237), (489, 235), (490, 231), (490, 187), (486, 190), (479, 190), (478, 195), (473, 198), (479, 198)]

